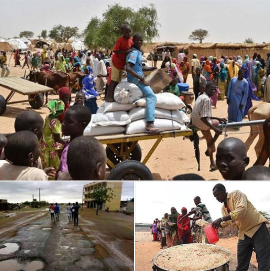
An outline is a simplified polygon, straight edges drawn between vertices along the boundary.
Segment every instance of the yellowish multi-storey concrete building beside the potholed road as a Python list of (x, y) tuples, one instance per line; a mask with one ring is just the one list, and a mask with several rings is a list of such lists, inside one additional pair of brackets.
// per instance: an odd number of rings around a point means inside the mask
[(95, 187), (105, 186), (111, 188), (115, 197), (108, 202), (104, 202), (101, 206), (102, 210), (107, 207), (109, 211), (119, 211), (121, 194), (122, 194), (122, 181), (92, 181), (84, 185), (84, 202), (87, 208), (96, 208), (96, 203), (91, 199), (91, 193)]

